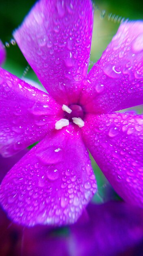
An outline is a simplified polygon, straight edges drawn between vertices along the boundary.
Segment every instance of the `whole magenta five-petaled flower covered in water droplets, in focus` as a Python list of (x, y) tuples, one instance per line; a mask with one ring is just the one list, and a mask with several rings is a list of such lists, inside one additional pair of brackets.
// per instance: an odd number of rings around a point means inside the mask
[(119, 195), (143, 206), (143, 115), (117, 112), (143, 103), (143, 22), (120, 25), (87, 74), (92, 28), (91, 0), (41, 0), (14, 33), (50, 93), (0, 69), (0, 152), (40, 141), (0, 187), (15, 222), (78, 219), (97, 190), (87, 148)]

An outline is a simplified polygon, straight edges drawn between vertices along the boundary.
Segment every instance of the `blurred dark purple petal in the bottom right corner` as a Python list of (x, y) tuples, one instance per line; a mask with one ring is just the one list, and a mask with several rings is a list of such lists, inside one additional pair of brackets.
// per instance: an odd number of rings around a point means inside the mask
[(143, 211), (123, 202), (89, 204), (89, 222), (71, 227), (74, 256), (111, 256), (143, 240)]

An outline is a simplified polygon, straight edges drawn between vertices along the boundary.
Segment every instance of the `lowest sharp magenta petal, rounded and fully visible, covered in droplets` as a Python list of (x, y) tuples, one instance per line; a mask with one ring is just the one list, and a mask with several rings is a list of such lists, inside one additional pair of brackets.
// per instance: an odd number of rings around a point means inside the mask
[(53, 131), (5, 176), (0, 201), (19, 224), (75, 222), (96, 192), (88, 151), (69, 127)]

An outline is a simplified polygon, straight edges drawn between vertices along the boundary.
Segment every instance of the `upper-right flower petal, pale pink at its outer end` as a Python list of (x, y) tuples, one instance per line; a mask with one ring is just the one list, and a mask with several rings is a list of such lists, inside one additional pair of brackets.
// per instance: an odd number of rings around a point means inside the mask
[[(93, 113), (143, 104), (143, 22), (125, 22), (88, 74), (81, 102)], [(92, 95), (92, 100), (88, 94)]]

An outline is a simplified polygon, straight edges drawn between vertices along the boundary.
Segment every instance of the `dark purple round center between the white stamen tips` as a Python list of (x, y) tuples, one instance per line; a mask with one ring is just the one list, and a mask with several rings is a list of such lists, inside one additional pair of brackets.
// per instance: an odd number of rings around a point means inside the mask
[(72, 112), (65, 113), (65, 118), (68, 118), (69, 120), (72, 119), (73, 117), (80, 117), (82, 120), (84, 118), (84, 111), (82, 110), (82, 107), (76, 104), (72, 104), (69, 106), (69, 108), (72, 110)]

